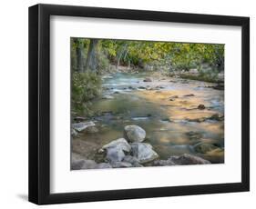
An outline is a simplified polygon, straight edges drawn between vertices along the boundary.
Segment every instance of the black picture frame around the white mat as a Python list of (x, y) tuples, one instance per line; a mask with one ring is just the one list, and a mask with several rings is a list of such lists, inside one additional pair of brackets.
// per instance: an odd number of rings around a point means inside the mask
[[(50, 194), (50, 16), (241, 26), (241, 183)], [(250, 190), (250, 18), (71, 5), (29, 7), (29, 201), (65, 204)]]

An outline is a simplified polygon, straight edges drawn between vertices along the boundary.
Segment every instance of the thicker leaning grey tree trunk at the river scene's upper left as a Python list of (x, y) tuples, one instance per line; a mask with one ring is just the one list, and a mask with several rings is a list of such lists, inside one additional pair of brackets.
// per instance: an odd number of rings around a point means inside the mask
[(87, 53), (86, 71), (97, 71), (97, 39), (91, 39)]

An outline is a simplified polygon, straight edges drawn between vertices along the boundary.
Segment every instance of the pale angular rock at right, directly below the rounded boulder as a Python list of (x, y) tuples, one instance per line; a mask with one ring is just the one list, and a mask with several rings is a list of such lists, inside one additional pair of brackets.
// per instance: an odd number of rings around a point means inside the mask
[(148, 163), (159, 157), (150, 144), (146, 143), (132, 143), (131, 150), (133, 156), (138, 159), (139, 164)]

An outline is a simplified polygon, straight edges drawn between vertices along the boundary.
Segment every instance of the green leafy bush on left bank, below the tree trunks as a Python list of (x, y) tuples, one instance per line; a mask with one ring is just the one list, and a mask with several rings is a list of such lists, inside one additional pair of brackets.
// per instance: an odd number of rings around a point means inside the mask
[(90, 111), (90, 101), (100, 94), (101, 78), (95, 73), (72, 74), (71, 85), (71, 109), (72, 113), (92, 114)]

